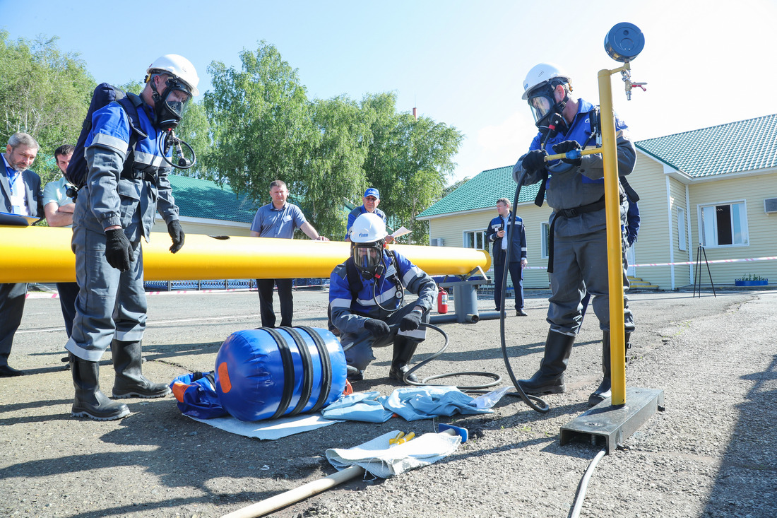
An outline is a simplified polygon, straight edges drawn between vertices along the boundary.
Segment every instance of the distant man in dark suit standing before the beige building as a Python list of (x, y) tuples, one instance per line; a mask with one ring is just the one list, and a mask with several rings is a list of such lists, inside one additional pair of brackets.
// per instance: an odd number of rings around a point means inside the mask
[[(504, 275), (504, 260), (507, 257), (507, 238), (510, 236), (510, 225), (513, 215), (510, 212), (510, 200), (499, 198), (497, 200), (497, 217), (492, 219), (486, 229), (486, 240), (493, 243), (491, 256), (493, 257), (493, 300), (497, 305), (497, 311), (502, 309), (502, 277)], [(513, 240), (510, 243), (510, 279), (515, 290), (515, 314), (525, 317), (524, 311), (524, 267), (528, 264), (526, 259), (526, 231), (524, 220), (515, 216), (515, 228)]]

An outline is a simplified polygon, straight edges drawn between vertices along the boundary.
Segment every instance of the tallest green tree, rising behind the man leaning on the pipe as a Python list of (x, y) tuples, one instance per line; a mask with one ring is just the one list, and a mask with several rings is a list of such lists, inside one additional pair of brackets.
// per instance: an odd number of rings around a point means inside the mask
[(204, 94), (204, 105), (213, 149), (204, 163), (218, 181), (257, 201), (268, 200), (272, 180), (284, 180), (296, 195), (299, 171), (319, 137), (305, 87), (271, 44), (262, 41), (240, 59), (241, 70), (220, 61), (208, 67), (213, 89)]

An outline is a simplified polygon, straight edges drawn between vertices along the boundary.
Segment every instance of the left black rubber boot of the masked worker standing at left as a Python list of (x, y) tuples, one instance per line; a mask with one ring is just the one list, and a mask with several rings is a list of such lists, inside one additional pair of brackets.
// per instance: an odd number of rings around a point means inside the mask
[(75, 400), (71, 415), (73, 417), (88, 417), (96, 421), (113, 421), (130, 414), (130, 409), (124, 403), (110, 401), (99, 390), (99, 363), (89, 362), (70, 355), (70, 370), (75, 387)]

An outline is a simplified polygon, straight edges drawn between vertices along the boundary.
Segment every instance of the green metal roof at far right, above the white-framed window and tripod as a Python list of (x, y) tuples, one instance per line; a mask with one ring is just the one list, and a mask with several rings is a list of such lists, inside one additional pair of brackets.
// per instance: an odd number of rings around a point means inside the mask
[(636, 142), (693, 178), (777, 166), (777, 114)]

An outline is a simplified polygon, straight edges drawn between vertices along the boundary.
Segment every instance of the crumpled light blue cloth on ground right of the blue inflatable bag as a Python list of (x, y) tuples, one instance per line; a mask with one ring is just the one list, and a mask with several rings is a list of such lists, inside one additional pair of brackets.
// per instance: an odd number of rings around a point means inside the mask
[(493, 412), (490, 408), (478, 408), (474, 398), (456, 387), (406, 387), (394, 390), (388, 397), (378, 396), (377, 391), (343, 396), (321, 414), (327, 419), (386, 422), (394, 414), (407, 421), (418, 421), (439, 415)]

